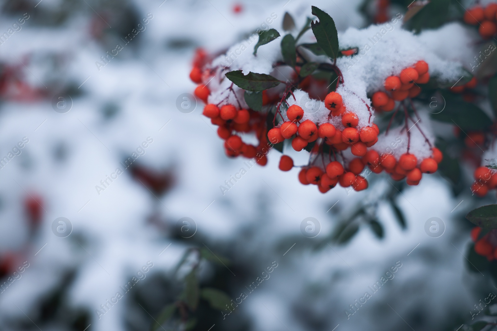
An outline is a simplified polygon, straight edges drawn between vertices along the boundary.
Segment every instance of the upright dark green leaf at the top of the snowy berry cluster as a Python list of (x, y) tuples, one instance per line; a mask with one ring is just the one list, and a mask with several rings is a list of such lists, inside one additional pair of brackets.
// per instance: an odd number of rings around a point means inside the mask
[(330, 15), (318, 7), (312, 6), (312, 13), (319, 18), (319, 22), (311, 22), (311, 28), (318, 45), (330, 59), (335, 60), (338, 56), (338, 34), (335, 22)]

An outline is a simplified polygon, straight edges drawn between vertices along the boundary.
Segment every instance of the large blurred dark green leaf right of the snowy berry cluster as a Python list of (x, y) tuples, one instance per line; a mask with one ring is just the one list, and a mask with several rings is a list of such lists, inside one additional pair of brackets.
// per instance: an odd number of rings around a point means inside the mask
[(492, 120), (475, 104), (464, 101), (449, 91), (442, 91), (445, 108), (431, 114), (436, 121), (459, 126), (463, 131), (483, 131), (492, 125)]

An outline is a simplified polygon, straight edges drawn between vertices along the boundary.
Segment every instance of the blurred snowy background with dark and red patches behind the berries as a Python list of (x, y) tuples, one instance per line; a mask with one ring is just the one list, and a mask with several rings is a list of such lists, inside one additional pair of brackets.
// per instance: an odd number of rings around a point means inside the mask
[[(317, 5), (342, 32), (404, 2), (378, 13), (372, 0), (0, 1), (0, 330), (470, 323), (497, 289), (465, 258), (464, 215), (482, 203), (461, 189), (469, 170), (322, 195), (271, 151), (223, 192), (245, 165), (191, 96), (195, 50), (221, 54), (268, 17), (303, 26)], [(452, 19), (432, 12), (409, 28)]]

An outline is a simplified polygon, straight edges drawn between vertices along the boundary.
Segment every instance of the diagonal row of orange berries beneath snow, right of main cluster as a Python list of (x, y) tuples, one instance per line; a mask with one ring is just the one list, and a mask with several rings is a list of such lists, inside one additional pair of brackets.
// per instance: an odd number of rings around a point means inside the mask
[(418, 61), (414, 67), (402, 70), (399, 76), (390, 76), (385, 79), (383, 86), (391, 95), (383, 91), (375, 92), (371, 98), (373, 107), (375, 110), (391, 112), (395, 108), (395, 101), (418, 96), (421, 88), (417, 84), (426, 84), (429, 79), (428, 64)]

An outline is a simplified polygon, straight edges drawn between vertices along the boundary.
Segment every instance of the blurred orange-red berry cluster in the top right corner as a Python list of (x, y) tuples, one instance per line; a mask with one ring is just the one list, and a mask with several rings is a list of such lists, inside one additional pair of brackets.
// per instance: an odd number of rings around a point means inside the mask
[(463, 20), (467, 24), (479, 25), (480, 36), (490, 39), (497, 33), (497, 3), (489, 3), (485, 8), (476, 5), (467, 9)]

